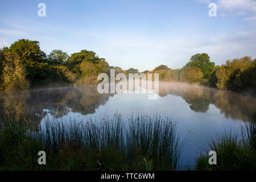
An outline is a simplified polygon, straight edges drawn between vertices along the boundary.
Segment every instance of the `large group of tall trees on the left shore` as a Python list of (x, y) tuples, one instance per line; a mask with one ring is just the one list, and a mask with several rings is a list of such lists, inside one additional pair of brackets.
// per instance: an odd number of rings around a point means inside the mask
[(0, 50), (2, 89), (27, 89), (42, 82), (97, 84), (99, 73), (108, 73), (109, 64), (93, 51), (82, 50), (71, 56), (53, 50), (46, 56), (39, 42), (20, 39)]

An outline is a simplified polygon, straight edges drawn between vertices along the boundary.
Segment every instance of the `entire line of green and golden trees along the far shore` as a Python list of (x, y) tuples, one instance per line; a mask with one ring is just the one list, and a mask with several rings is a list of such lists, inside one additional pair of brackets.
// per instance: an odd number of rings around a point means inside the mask
[[(227, 60), (225, 64), (215, 65), (207, 53), (191, 56), (181, 69), (171, 69), (159, 65), (152, 71), (158, 73), (160, 81), (188, 82), (203, 84), (228, 90), (256, 88), (256, 59), (249, 56)], [(71, 84), (96, 85), (99, 73), (115, 74), (140, 73), (138, 69), (123, 70), (109, 66), (104, 58), (86, 49), (68, 55), (61, 50), (53, 50), (46, 55), (39, 42), (20, 39), (10, 47), (0, 49), (0, 87), (6, 90), (24, 90), (34, 86)]]

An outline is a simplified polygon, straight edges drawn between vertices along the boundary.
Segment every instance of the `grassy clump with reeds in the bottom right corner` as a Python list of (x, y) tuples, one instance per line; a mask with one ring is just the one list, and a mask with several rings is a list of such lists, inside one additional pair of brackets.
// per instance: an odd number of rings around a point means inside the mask
[[(196, 170), (200, 171), (241, 171), (256, 169), (256, 113), (247, 114), (241, 136), (225, 131), (216, 134), (196, 159)], [(217, 164), (208, 163), (209, 151), (216, 151)]]

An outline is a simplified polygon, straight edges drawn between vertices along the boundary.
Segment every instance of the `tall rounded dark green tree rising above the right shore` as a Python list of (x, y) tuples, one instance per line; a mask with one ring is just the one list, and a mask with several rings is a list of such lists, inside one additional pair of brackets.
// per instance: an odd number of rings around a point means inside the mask
[(214, 65), (214, 62), (210, 62), (210, 57), (207, 53), (197, 53), (196, 55), (191, 56), (190, 61), (185, 67), (200, 68), (203, 73), (203, 78), (207, 79), (210, 72), (213, 71)]

